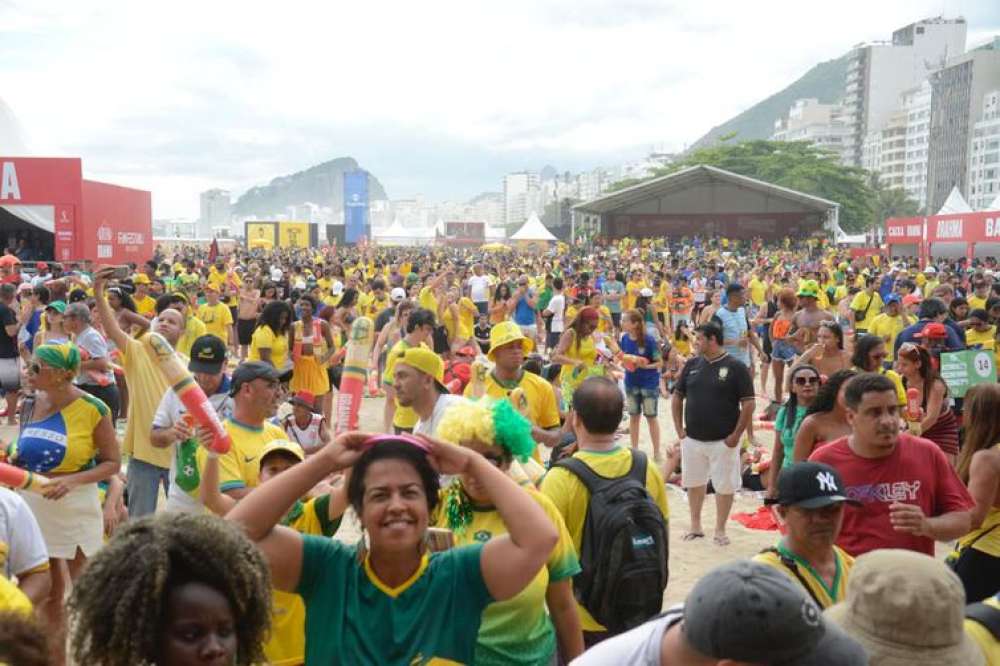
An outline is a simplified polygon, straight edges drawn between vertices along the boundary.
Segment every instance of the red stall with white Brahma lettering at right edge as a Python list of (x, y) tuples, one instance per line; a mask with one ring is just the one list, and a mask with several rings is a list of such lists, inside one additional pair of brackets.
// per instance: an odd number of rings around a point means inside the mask
[(893, 257), (1000, 257), (998, 210), (890, 218), (885, 234)]

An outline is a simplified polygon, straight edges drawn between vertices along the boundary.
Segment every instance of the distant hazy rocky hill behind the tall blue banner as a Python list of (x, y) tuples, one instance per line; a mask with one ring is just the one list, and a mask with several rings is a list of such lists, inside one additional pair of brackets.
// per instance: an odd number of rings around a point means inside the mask
[[(233, 204), (233, 212), (269, 217), (285, 213), (288, 206), (306, 202), (339, 211), (344, 205), (344, 172), (357, 168), (358, 162), (353, 157), (338, 157), (290, 176), (279, 176), (267, 185), (247, 190)], [(371, 201), (388, 198), (382, 183), (372, 174), (368, 178), (368, 198)]]

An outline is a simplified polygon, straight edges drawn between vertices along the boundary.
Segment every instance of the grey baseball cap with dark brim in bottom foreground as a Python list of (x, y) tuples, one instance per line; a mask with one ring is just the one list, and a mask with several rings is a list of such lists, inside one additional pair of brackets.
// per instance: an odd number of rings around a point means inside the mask
[(766, 564), (737, 560), (709, 571), (684, 602), (681, 632), (713, 659), (770, 666), (867, 664), (864, 648), (828, 622), (805, 590)]

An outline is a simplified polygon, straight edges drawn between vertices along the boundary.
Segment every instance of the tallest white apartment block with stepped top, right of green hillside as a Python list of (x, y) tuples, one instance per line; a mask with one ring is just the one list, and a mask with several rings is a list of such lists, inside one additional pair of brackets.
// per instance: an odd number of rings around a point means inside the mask
[(859, 44), (848, 54), (844, 162), (861, 166), (866, 137), (881, 131), (900, 94), (920, 84), (948, 58), (965, 51), (965, 19), (917, 21), (892, 33), (891, 42)]

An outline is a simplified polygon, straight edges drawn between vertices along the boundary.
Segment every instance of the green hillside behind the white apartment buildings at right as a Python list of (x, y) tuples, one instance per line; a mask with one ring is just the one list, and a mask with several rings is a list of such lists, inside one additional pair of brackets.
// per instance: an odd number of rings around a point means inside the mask
[(844, 95), (844, 78), (847, 76), (847, 54), (836, 60), (821, 62), (798, 81), (781, 92), (775, 93), (740, 115), (730, 118), (701, 137), (689, 150), (706, 148), (728, 134), (735, 140), (768, 139), (774, 131), (774, 121), (788, 113), (795, 100), (815, 97), (823, 104), (836, 102)]

